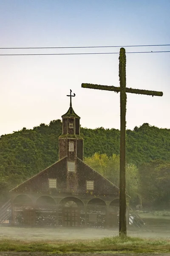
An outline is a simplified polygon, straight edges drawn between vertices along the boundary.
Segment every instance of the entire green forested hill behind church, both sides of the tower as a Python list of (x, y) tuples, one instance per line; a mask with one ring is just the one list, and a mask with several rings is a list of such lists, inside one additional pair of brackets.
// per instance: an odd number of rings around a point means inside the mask
[[(0, 191), (17, 185), (58, 160), (58, 137), (61, 121), (0, 137)], [(81, 128), (84, 156), (95, 152), (108, 156), (119, 154), (119, 130)], [(170, 161), (170, 130), (148, 124), (127, 130), (127, 162), (137, 166), (150, 160)]]

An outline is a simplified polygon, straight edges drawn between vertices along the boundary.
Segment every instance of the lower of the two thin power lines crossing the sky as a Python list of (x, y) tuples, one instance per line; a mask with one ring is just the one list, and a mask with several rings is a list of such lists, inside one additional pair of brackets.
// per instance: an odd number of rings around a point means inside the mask
[[(170, 51), (151, 51), (151, 52), (126, 52), (126, 53), (158, 53)], [(94, 54), (119, 54), (119, 52), (84, 52), (84, 53), (21, 53), (21, 54), (0, 54), (0, 56), (28, 56), (28, 55), (94, 55)]]

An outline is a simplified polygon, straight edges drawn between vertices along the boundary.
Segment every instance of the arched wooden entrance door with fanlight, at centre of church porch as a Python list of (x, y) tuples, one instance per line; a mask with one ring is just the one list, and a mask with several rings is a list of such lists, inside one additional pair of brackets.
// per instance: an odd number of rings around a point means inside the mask
[(63, 224), (64, 226), (79, 227), (80, 211), (74, 201), (68, 201), (63, 207)]

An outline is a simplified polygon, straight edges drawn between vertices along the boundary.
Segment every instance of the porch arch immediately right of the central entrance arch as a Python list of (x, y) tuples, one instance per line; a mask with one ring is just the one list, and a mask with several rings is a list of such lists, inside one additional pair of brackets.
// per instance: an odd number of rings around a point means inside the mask
[(93, 198), (87, 204), (88, 227), (105, 227), (106, 203), (100, 198)]

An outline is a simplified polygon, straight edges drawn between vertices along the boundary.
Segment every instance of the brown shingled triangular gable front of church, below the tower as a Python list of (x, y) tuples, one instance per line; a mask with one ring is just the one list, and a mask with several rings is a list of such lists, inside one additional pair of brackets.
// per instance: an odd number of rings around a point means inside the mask
[[(71, 171), (69, 171), (70, 162), (75, 163), (75, 169)], [(55, 189), (50, 189), (50, 179), (56, 179), (57, 185)], [(94, 189), (92, 191), (87, 186), (89, 181), (94, 182)], [(74, 161), (64, 157), (19, 186), (11, 189), (10, 192), (113, 196), (119, 195), (119, 187), (85, 164), (78, 157)]]

